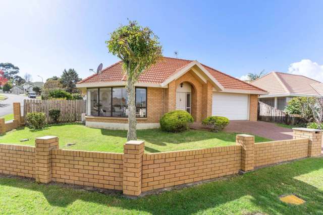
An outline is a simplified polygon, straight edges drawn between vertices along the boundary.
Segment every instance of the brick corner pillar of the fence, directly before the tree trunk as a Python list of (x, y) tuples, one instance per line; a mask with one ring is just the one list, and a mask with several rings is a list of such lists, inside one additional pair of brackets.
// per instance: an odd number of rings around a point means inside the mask
[(141, 193), (142, 155), (144, 141), (131, 140), (124, 145), (123, 194), (138, 196)]

